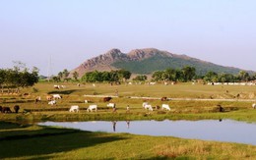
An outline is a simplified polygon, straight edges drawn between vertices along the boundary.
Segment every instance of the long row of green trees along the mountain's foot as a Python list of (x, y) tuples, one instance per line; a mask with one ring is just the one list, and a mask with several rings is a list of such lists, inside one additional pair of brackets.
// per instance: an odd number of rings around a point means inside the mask
[[(82, 77), (82, 81), (86, 82), (102, 82), (102, 81), (122, 81), (129, 80), (131, 73), (126, 70), (117, 70), (111, 72), (89, 72)], [(146, 75), (138, 75), (133, 80), (145, 81), (148, 77)], [(239, 82), (256, 80), (256, 74), (250, 76), (245, 71), (240, 71), (237, 75), (231, 74), (218, 74), (215, 72), (208, 72), (204, 76), (196, 75), (196, 69), (194, 67), (186, 66), (182, 69), (166, 69), (164, 71), (156, 71), (151, 76), (153, 81), (181, 81), (187, 82), (192, 80), (204, 80), (205, 82)]]

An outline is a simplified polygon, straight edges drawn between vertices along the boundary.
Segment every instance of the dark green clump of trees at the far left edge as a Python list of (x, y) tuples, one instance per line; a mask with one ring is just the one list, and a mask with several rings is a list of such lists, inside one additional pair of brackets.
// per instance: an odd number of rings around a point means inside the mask
[(38, 81), (38, 69), (21, 68), (15, 66), (14, 69), (0, 69), (1, 92), (8, 89), (8, 93), (19, 93), (21, 87), (29, 87)]

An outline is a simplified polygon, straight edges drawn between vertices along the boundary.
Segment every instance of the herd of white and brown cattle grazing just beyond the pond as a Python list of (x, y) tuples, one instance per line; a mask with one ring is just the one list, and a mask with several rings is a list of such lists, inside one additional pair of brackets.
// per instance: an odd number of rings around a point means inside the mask
[[(46, 100), (48, 101), (48, 104), (49, 105), (55, 105), (57, 103), (57, 100), (58, 99), (61, 99), (62, 96), (60, 94), (52, 94), (52, 95), (47, 95), (46, 96)], [(103, 102), (109, 102), (110, 100), (112, 99), (112, 97), (103, 97)], [(39, 97), (36, 97), (35, 99), (35, 103), (39, 102), (41, 100), (40, 96)], [(167, 97), (162, 97), (160, 99), (161, 101), (167, 101), (168, 98)], [(89, 103), (90, 101), (89, 100), (85, 100), (85, 103)], [(108, 103), (106, 105), (106, 107), (110, 107), (113, 109), (113, 111), (116, 111), (116, 104), (115, 103)], [(153, 111), (154, 108), (156, 110), (167, 110), (167, 111), (170, 111), (170, 107), (168, 104), (161, 104), (161, 108), (159, 105), (157, 106), (153, 106), (151, 104), (149, 104), (149, 102), (143, 102), (142, 104), (142, 107), (146, 110), (149, 110), (149, 111)], [(252, 107), (253, 109), (256, 109), (256, 103), (253, 103), (252, 104)], [(93, 112), (93, 111), (97, 111), (97, 105), (96, 104), (91, 104), (89, 105), (88, 109), (87, 109), (87, 112)], [(20, 110), (20, 106), (19, 105), (15, 105), (14, 106), (14, 112), (15, 113), (18, 113), (19, 110)], [(126, 110), (128, 111), (130, 109), (129, 105), (127, 106)], [(2, 107), (0, 106), (0, 112), (1, 113), (12, 113), (12, 110), (10, 107)], [(79, 106), (78, 105), (72, 105), (69, 109), (69, 112), (79, 112)]]

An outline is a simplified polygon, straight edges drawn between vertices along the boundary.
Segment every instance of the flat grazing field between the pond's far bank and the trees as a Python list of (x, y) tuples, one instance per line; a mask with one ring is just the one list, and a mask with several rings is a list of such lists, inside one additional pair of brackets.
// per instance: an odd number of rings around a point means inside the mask
[[(164, 84), (120, 84), (109, 83), (81, 84), (62, 83), (65, 88), (55, 89), (54, 83), (39, 82), (33, 88), (25, 88), (19, 95), (0, 95), (0, 105), (21, 107), (19, 114), (0, 114), (0, 120), (8, 121), (87, 121), (87, 120), (126, 120), (126, 119), (234, 119), (239, 121), (256, 121), (256, 110), (252, 103), (256, 101), (256, 86), (203, 85), (191, 83)], [(36, 91), (35, 91), (36, 90)], [(116, 90), (118, 97), (116, 97)], [(29, 93), (29, 95), (25, 95)], [(60, 94), (56, 105), (49, 105), (48, 94)], [(87, 95), (87, 96), (85, 96)], [(35, 98), (41, 101), (35, 104)], [(106, 107), (104, 96), (111, 96), (109, 101), (116, 104), (116, 112)], [(161, 101), (167, 97), (168, 101)], [(85, 103), (88, 100), (89, 103)], [(154, 107), (149, 112), (142, 107), (147, 101)], [(161, 104), (168, 104), (170, 111), (156, 110)], [(90, 104), (98, 106), (97, 112), (86, 112)], [(79, 113), (69, 113), (71, 105), (80, 107)], [(126, 107), (130, 111), (127, 113)], [(219, 112), (219, 107), (224, 112)]]

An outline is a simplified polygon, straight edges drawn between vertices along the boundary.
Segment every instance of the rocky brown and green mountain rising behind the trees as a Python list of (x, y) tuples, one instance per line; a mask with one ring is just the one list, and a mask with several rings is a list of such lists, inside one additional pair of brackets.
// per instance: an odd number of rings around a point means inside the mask
[[(124, 69), (133, 74), (149, 75), (155, 71), (167, 68), (181, 69), (185, 66), (195, 67), (198, 75), (204, 75), (208, 71), (216, 73), (238, 74), (241, 69), (224, 67), (210, 62), (202, 61), (186, 55), (172, 54), (155, 48), (135, 49), (125, 54), (119, 49), (111, 49), (105, 54), (89, 59), (81, 64), (73, 72), (78, 72), (82, 77), (87, 72), (111, 71)], [(251, 71), (249, 73), (252, 73)]]

